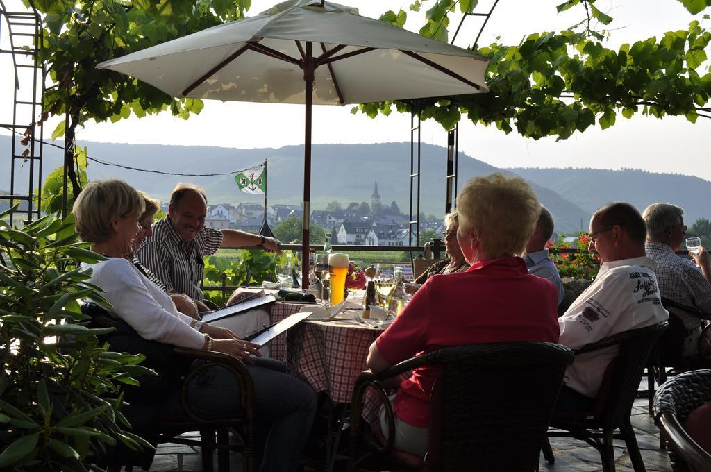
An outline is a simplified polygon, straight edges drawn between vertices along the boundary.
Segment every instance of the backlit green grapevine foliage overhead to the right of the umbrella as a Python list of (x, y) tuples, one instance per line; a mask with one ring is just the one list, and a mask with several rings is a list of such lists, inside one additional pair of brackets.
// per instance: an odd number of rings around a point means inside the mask
[[(671, 0), (670, 0), (671, 1)], [(678, 0), (692, 14), (700, 13), (708, 0)], [(419, 33), (439, 41), (449, 39), (450, 20), (471, 14), (478, 2), (417, 0), (410, 5), (419, 11), (432, 5)], [(590, 126), (606, 129), (618, 114), (631, 118), (636, 113), (653, 117), (683, 115), (690, 122), (711, 117), (711, 73), (705, 49), (711, 33), (698, 21), (688, 29), (664, 33), (656, 38), (639, 38), (618, 50), (606, 48), (606, 35), (613, 18), (600, 11), (595, 0), (568, 0), (557, 11), (578, 9), (581, 21), (565, 31), (531, 32), (518, 45), (471, 45), (491, 62), (486, 70), (490, 92), (418, 100), (423, 119), (434, 118), (446, 129), (462, 115), (475, 124), (495, 125), (506, 134), (513, 131), (533, 139), (557, 136), (567, 139)], [(407, 13), (387, 11), (382, 21), (402, 27)], [(474, 38), (471, 38), (474, 41)], [(703, 75), (701, 75), (703, 74)], [(361, 104), (356, 109), (370, 117), (410, 112), (410, 103)]]

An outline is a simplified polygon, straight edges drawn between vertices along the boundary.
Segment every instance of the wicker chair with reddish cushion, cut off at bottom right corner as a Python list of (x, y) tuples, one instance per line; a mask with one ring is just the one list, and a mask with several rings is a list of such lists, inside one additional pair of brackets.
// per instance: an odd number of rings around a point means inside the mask
[(711, 451), (702, 449), (681, 426), (689, 414), (711, 402), (711, 369), (692, 370), (668, 380), (654, 396), (654, 418), (674, 472), (711, 470)]

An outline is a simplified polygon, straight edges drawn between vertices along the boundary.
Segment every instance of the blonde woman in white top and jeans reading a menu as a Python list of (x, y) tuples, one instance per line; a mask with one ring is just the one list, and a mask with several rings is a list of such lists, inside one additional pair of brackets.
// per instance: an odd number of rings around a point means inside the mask
[[(240, 358), (255, 385), (257, 441), (264, 444), (257, 451), (264, 457), (260, 470), (295, 471), (316, 412), (314, 390), (284, 373), (285, 368), (255, 365), (252, 356), (260, 355), (258, 345), (240, 340), (226, 328), (180, 313), (164, 291), (124, 259), (133, 250), (143, 211), (144, 198), (123, 181), (93, 181), (82, 190), (73, 207), (76, 230), (82, 240), (94, 242), (93, 251), (108, 258), (84, 264), (92, 269), (90, 282), (104, 290), (105, 299), (113, 306), (112, 315), (128, 323), (141, 338)], [(189, 386), (193, 410), (205, 416), (239, 412), (240, 387), (235, 378), (223, 368), (201, 373)], [(179, 396), (180, 392), (171, 392), (165, 399), (166, 409), (183, 413)]]

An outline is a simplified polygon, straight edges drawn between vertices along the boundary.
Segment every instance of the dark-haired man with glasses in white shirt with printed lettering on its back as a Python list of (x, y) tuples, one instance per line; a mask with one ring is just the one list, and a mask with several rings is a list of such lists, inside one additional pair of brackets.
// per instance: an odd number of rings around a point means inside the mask
[[(600, 270), (559, 318), (561, 344), (576, 349), (668, 318), (657, 288), (656, 264), (644, 252), (645, 237), (644, 220), (629, 203), (608, 203), (594, 213), (588, 249), (599, 255)], [(556, 409), (591, 410), (605, 369), (616, 355), (615, 347), (576, 355), (565, 371)]]

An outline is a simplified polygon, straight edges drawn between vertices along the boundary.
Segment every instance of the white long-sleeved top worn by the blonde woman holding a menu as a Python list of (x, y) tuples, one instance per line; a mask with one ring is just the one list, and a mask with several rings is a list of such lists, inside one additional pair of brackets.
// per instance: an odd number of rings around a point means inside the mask
[(164, 291), (147, 279), (127, 259), (110, 257), (97, 264), (82, 264), (92, 269), (92, 284), (100, 286), (113, 305), (110, 311), (148, 340), (201, 349), (205, 336), (190, 326), (193, 318), (176, 309)]

